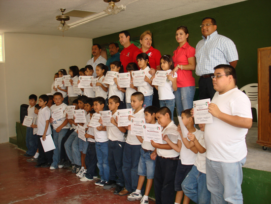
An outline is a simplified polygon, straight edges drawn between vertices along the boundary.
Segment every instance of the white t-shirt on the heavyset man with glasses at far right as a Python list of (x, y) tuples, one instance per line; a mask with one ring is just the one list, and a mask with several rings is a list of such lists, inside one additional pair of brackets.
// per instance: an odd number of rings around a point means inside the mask
[[(251, 118), (251, 104), (248, 97), (237, 88), (219, 95), (214, 94), (211, 103), (221, 112), (242, 118)], [(213, 117), (213, 123), (205, 125), (204, 139), (206, 157), (216, 162), (239, 162), (247, 155), (245, 135), (247, 128), (234, 127)]]

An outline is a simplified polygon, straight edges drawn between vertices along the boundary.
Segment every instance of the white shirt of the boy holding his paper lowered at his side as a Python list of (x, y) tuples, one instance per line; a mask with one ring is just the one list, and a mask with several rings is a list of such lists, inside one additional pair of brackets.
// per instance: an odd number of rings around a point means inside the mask
[[(45, 126), (46, 126), (46, 121), (49, 121), (50, 117), (51, 117), (51, 111), (47, 106), (38, 110), (37, 135), (43, 135)], [(46, 135), (49, 135), (49, 134), (52, 134), (50, 125), (48, 125), (47, 131), (46, 131)]]

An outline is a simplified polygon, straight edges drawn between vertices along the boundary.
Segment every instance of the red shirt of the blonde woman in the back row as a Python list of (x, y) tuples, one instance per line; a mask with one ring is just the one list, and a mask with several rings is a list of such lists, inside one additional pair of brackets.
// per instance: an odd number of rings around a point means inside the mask
[[(142, 48), (137, 50), (134, 53), (134, 62), (137, 64), (136, 56), (142, 52)], [(148, 51), (145, 52), (149, 56), (149, 64), (150, 68), (156, 69), (157, 66), (160, 65), (161, 53), (158, 49), (153, 48), (152, 46), (149, 48)], [(138, 67), (138, 65), (137, 65)], [(140, 68), (139, 68), (140, 69)]]

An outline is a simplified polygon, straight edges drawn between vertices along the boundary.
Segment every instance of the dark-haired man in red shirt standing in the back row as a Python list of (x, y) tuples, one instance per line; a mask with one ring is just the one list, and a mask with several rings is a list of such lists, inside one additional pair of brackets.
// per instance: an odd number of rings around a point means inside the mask
[(134, 43), (131, 43), (131, 36), (128, 31), (121, 31), (119, 33), (119, 41), (122, 46), (124, 46), (124, 49), (120, 53), (120, 61), (124, 68), (124, 72), (126, 71), (126, 66), (133, 62), (133, 56), (135, 51), (137, 51), (139, 48), (134, 45)]

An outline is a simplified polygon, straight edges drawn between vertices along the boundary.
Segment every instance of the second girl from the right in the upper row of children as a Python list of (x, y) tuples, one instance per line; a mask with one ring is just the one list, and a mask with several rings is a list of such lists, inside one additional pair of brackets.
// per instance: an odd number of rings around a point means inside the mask
[(143, 107), (146, 108), (148, 106), (152, 105), (152, 96), (153, 96), (153, 85), (151, 84), (151, 75), (149, 74), (150, 68), (149, 68), (149, 57), (146, 53), (140, 53), (136, 56), (136, 61), (138, 64), (138, 67), (141, 68), (140, 70), (145, 71), (145, 82), (147, 82), (147, 85), (145, 86), (138, 86), (137, 90), (144, 94), (145, 100), (143, 103)]

